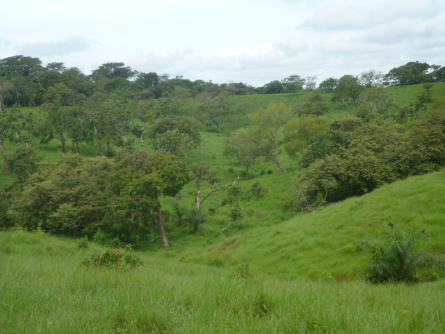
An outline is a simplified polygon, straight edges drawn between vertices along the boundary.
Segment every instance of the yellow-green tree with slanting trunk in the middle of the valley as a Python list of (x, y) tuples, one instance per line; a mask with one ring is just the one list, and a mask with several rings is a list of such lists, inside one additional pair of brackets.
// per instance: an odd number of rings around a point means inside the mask
[(284, 173), (287, 173), (287, 170), (280, 159), (280, 149), (278, 148), (280, 140), (278, 136), (280, 129), (286, 124), (290, 116), (291, 110), (288, 106), (282, 103), (271, 103), (259, 113), (248, 115), (253, 129), (246, 132), (250, 141), (259, 148), (260, 156), (273, 161)]

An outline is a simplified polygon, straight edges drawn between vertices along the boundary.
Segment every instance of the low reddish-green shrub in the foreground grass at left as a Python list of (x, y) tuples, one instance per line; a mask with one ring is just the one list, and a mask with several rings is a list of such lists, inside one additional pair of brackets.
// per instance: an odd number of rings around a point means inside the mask
[(92, 254), (92, 256), (83, 260), (82, 264), (86, 267), (105, 267), (110, 269), (119, 267), (136, 268), (142, 264), (142, 261), (139, 255), (134, 252), (122, 253), (120, 249), (108, 249)]

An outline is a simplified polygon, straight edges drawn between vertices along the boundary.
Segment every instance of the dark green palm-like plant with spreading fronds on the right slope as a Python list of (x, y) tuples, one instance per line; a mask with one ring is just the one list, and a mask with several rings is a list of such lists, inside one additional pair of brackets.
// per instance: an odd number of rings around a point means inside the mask
[(445, 269), (443, 257), (418, 250), (419, 241), (427, 236), (425, 230), (406, 236), (393, 223), (389, 223), (385, 242), (378, 244), (369, 239), (358, 241), (357, 246), (371, 254), (366, 278), (373, 283), (407, 283), (416, 280), (418, 269)]

